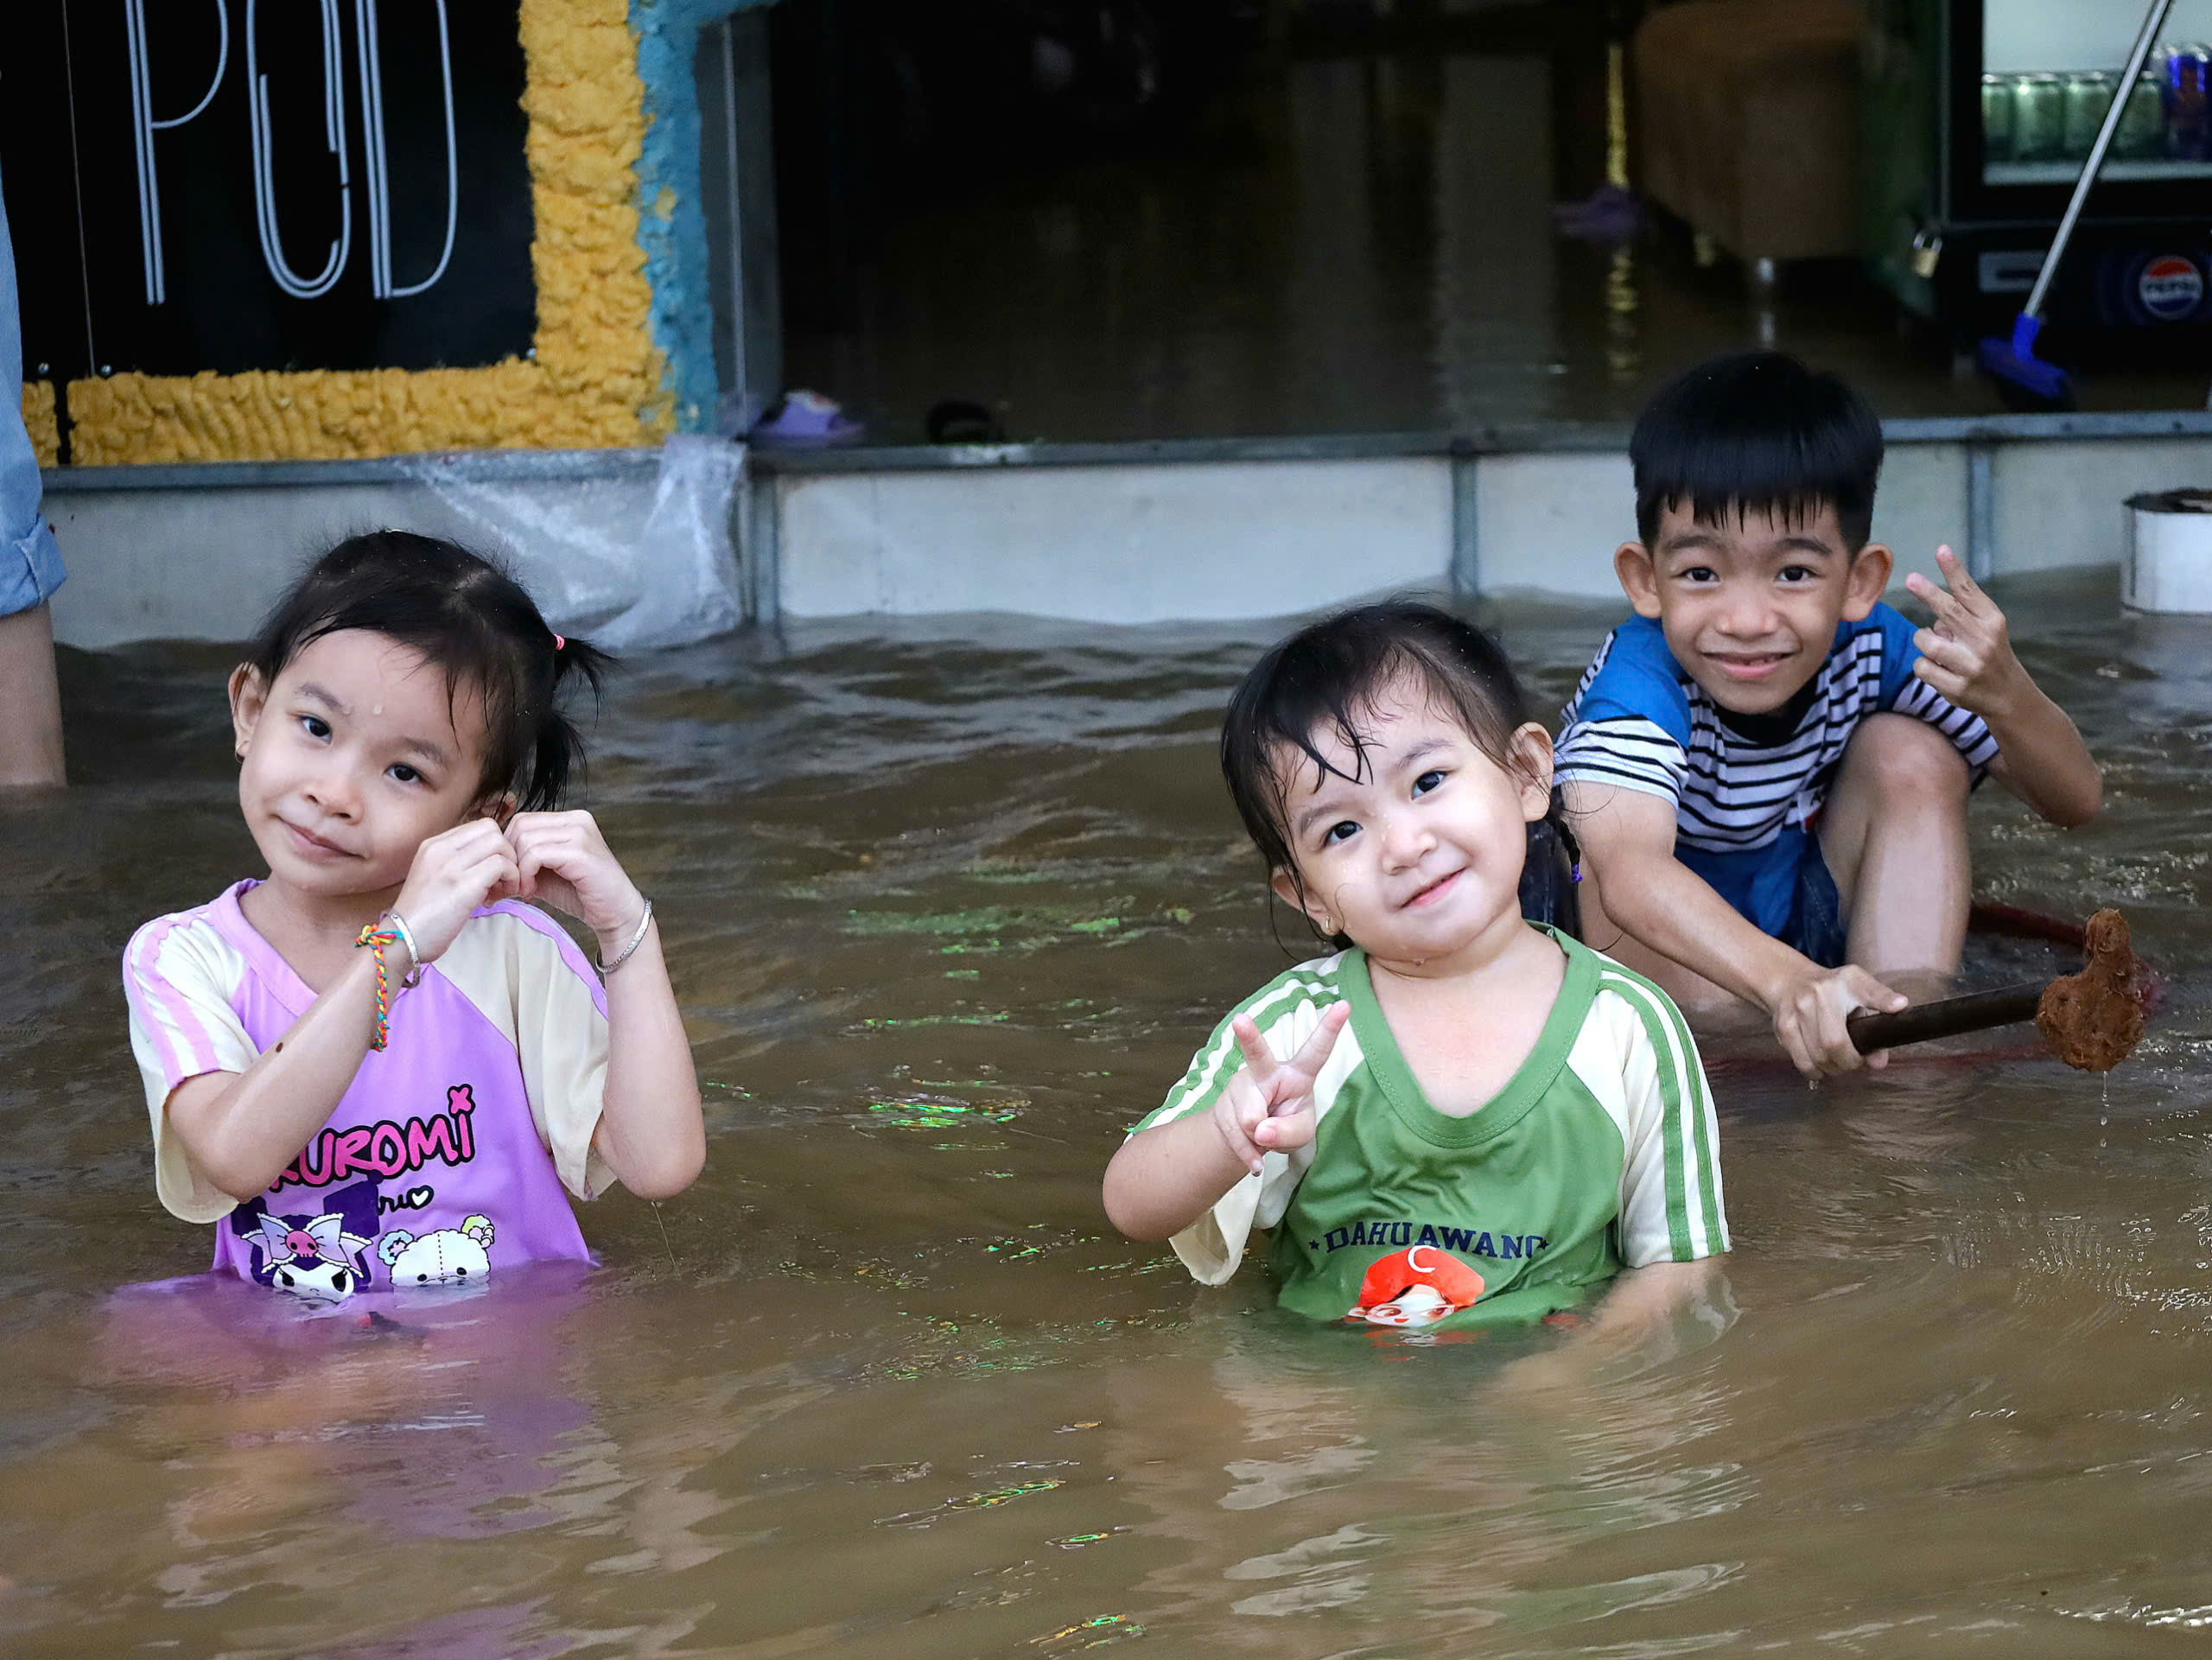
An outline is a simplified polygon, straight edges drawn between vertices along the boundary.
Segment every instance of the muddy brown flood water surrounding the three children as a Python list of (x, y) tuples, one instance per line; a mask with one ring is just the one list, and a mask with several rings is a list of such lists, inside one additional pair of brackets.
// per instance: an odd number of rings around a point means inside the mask
[[(398, 1330), (119, 1293), (208, 1239), (153, 1197), (117, 958), (259, 865), (232, 655), (64, 653), (80, 786), (0, 806), (0, 1649), (2166, 1653), (2212, 1625), (2212, 629), (2115, 589), (2000, 595), (2106, 817), (1989, 790), (1973, 845), (1989, 896), (2128, 912), (2137, 1060), (1719, 1069), (1741, 1317), (1579, 1386), (1531, 1381), (1551, 1332), (1307, 1326), (1099, 1211), (1285, 961), (1210, 755), (1272, 624), (637, 662), (591, 806), (659, 901), (699, 1184)], [(1608, 620), (1484, 615), (1546, 708)]]

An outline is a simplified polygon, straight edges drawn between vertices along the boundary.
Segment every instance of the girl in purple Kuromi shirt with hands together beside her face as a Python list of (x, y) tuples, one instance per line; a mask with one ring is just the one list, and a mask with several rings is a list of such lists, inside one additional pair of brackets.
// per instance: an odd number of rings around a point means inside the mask
[[(568, 1195), (706, 1158), (653, 905), (557, 708), (606, 657), (498, 567), (378, 531), (325, 553), (230, 675), (268, 861), (124, 954), (155, 1191), (215, 1268), (316, 1304), (584, 1257)], [(597, 972), (553, 919), (597, 936)]]

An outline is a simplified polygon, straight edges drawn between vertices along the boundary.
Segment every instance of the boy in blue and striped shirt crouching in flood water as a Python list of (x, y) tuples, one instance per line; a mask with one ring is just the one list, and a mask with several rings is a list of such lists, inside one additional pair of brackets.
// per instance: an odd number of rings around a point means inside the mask
[[(1584, 938), (1679, 1003), (1743, 998), (1807, 1076), (1863, 1065), (1845, 1018), (1889, 974), (1958, 967), (1966, 795), (1995, 777), (2055, 826), (2097, 815), (2081, 735), (1951, 549), (1882, 604), (1882, 429), (1776, 352), (1703, 363), (1630, 438), (1635, 606), (1590, 662), (1557, 777), (1584, 848)], [(1882, 1065), (1882, 1056), (1871, 1056)]]

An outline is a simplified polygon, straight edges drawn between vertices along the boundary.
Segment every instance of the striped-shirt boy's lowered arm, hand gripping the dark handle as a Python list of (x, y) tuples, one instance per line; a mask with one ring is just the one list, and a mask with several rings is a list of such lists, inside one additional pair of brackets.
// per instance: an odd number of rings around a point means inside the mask
[[(1849, 963), (1825, 969), (1739, 916), (1674, 857), (1674, 803), (1666, 797), (1579, 779), (1564, 795), (1597, 903), (1637, 943), (1765, 1009), (1807, 1078), (1885, 1065), (1885, 1056), (1851, 1047), (1845, 1020), (1854, 1009), (1902, 1009), (1900, 992)], [(1606, 950), (1604, 941), (1590, 945)]]

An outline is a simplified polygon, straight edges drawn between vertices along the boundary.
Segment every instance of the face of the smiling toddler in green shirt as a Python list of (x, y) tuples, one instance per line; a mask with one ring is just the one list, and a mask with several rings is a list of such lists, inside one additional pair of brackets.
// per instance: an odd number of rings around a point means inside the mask
[[(1323, 932), (1349, 934), (1380, 963), (1444, 965), (1520, 923), (1528, 823), (1551, 810), (1551, 737), (1533, 722), (1502, 768), (1438, 708), (1427, 686), (1396, 679), (1367, 710), (1367, 755), (1316, 733), (1329, 772), (1305, 755), (1287, 799), (1296, 876), (1274, 890)], [(1345, 777), (1345, 775), (1354, 777)]]

